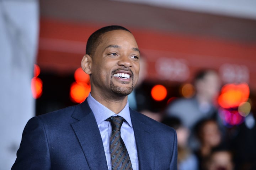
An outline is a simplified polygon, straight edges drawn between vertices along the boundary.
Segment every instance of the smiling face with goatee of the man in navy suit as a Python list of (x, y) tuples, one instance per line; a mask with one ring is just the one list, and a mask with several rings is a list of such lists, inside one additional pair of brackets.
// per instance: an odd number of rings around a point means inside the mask
[(91, 56), (91, 89), (102, 95), (126, 96), (139, 76), (139, 57), (134, 36), (125, 30), (103, 34)]

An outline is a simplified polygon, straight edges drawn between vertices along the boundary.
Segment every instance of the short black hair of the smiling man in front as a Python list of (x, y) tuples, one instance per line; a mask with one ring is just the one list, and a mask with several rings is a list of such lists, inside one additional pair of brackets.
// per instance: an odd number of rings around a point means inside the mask
[(122, 26), (106, 26), (106, 27), (96, 30), (94, 33), (91, 34), (91, 36), (87, 40), (86, 54), (91, 56), (95, 53), (97, 46), (101, 42), (101, 37), (103, 34), (105, 34), (106, 32), (109, 32), (109, 31), (120, 30), (120, 29), (130, 32), (128, 29), (126, 29)]

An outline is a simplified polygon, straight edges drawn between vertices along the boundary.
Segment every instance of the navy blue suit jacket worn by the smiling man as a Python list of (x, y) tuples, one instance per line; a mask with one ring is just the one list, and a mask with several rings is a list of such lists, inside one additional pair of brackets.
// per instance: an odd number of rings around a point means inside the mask
[[(130, 109), (140, 170), (176, 170), (174, 129)], [(12, 170), (107, 170), (103, 143), (87, 100), (31, 118)]]

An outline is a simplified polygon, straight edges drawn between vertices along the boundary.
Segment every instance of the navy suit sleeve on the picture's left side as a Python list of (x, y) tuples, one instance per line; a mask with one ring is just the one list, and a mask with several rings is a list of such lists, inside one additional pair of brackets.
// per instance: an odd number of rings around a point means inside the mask
[(49, 146), (39, 117), (31, 118), (22, 134), (17, 158), (11, 170), (50, 170)]

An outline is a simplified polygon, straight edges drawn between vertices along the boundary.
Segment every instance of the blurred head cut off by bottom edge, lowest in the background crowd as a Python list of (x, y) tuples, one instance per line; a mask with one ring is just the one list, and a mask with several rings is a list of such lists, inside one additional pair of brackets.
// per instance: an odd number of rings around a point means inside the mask
[(208, 159), (206, 170), (234, 170), (233, 154), (229, 150), (213, 150)]

